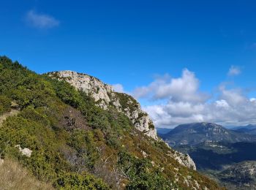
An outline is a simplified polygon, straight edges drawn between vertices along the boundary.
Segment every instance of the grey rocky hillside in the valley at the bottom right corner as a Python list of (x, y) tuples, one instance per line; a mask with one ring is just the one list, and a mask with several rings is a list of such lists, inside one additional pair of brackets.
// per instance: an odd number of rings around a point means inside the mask
[(256, 161), (233, 164), (219, 178), (229, 189), (256, 189)]

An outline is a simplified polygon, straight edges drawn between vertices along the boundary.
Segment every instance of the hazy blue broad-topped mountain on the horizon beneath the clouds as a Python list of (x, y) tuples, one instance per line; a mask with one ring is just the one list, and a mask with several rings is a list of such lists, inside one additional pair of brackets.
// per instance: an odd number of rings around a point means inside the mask
[(160, 136), (172, 146), (197, 145), (205, 141), (242, 142), (255, 141), (256, 136), (225, 129), (216, 123), (188, 123), (176, 126)]

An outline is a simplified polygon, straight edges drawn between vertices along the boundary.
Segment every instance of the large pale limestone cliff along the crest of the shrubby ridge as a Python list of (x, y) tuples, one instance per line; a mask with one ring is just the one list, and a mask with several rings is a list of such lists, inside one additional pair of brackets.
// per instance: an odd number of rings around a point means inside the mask
[(86, 92), (95, 99), (97, 105), (107, 110), (109, 106), (116, 107), (116, 109), (132, 121), (135, 127), (144, 132), (149, 137), (158, 140), (157, 130), (151, 118), (144, 112), (140, 104), (129, 96), (128, 94), (118, 93), (113, 90), (113, 87), (102, 83), (96, 77), (81, 74), (72, 71), (50, 72), (51, 77), (56, 77), (59, 80), (66, 80), (78, 90)]

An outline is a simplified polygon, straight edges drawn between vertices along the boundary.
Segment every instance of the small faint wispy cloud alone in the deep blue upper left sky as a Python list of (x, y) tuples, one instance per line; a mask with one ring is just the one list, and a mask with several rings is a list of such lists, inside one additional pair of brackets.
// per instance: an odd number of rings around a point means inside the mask
[(50, 15), (39, 14), (34, 10), (30, 10), (26, 14), (26, 21), (35, 28), (53, 28), (59, 26), (59, 20)]

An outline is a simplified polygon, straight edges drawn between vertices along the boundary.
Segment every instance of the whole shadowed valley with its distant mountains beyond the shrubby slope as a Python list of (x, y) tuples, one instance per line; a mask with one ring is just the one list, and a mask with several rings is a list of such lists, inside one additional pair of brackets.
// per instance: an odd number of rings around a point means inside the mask
[(189, 154), (197, 170), (219, 185), (255, 189), (256, 142), (255, 134), (248, 131), (225, 129), (215, 123), (191, 123), (159, 135), (176, 151)]

